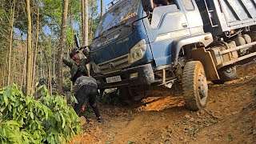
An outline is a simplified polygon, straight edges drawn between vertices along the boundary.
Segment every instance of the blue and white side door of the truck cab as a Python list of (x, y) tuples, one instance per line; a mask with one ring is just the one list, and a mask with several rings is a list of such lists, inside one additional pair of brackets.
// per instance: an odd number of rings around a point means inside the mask
[(170, 64), (171, 43), (175, 38), (190, 35), (181, 2), (155, 7), (152, 13), (149, 39), (156, 66)]

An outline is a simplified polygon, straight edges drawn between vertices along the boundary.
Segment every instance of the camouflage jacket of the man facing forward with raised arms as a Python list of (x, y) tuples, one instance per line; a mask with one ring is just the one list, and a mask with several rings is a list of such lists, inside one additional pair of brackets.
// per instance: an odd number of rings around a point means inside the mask
[[(71, 74), (71, 78), (70, 80), (73, 81), (73, 78), (74, 78), (74, 75), (77, 73), (78, 71), (78, 64), (76, 64), (76, 62), (74, 62), (73, 60), (72, 61), (69, 61), (67, 60), (66, 58), (63, 58), (63, 61), (65, 63), (66, 66), (69, 66), (70, 67), (70, 74)], [(86, 68), (86, 64), (88, 64), (90, 62), (89, 59), (87, 58), (80, 58), (80, 68), (81, 68), (81, 71), (82, 72), (86, 72), (86, 74), (88, 74), (88, 70)]]

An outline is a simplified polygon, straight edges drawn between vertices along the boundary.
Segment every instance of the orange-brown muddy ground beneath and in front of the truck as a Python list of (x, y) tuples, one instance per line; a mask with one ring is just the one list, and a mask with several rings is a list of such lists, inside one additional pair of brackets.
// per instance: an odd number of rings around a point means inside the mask
[(234, 81), (209, 84), (209, 94), (198, 112), (175, 94), (134, 106), (99, 103), (104, 122), (90, 114), (74, 143), (256, 143), (256, 62), (238, 66)]

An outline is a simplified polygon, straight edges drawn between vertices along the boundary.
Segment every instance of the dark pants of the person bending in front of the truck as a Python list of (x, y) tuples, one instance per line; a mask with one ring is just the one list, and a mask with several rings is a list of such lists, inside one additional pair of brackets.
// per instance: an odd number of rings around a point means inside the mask
[(76, 95), (78, 104), (74, 104), (74, 111), (77, 114), (80, 113), (80, 110), (82, 109), (82, 105), (84, 104), (84, 102), (88, 100), (90, 106), (94, 110), (96, 117), (100, 117), (98, 107), (95, 103), (97, 90), (98, 89), (96, 86), (84, 85), (80, 87), (80, 89), (78, 90), (78, 94)]

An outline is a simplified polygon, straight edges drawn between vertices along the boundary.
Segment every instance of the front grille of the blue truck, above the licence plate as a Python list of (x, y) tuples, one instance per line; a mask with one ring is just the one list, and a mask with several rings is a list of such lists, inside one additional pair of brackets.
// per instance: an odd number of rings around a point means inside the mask
[(116, 70), (120, 70), (122, 68), (130, 66), (129, 59), (130, 59), (130, 54), (125, 54), (125, 55), (122, 55), (121, 57), (99, 63), (98, 67), (102, 74), (108, 74)]

